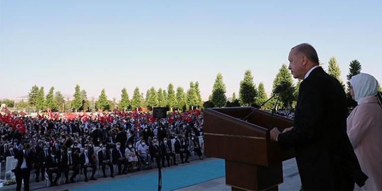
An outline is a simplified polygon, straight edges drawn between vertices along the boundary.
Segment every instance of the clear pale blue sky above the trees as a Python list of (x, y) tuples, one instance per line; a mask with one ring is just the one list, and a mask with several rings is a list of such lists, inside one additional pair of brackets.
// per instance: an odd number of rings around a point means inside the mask
[(34, 84), (96, 99), (131, 98), (199, 81), (207, 99), (221, 72), (227, 97), (246, 69), (267, 92), (289, 50), (312, 44), (323, 67), (335, 56), (382, 80), (381, 0), (0, 0), (0, 98)]

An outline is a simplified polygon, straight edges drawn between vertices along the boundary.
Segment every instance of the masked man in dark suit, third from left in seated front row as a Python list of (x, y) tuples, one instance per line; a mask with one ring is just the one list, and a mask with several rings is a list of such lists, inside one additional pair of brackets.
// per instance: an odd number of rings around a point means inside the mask
[(97, 179), (94, 178), (94, 175), (97, 170), (97, 164), (96, 164), (96, 158), (95, 158), (94, 152), (89, 149), (87, 146), (84, 148), (83, 153), (80, 155), (80, 161), (81, 161), (81, 169), (83, 169), (83, 174), (85, 176), (85, 182), (88, 181), (87, 179), (87, 168), (92, 168), (92, 175), (90, 180), (96, 181)]

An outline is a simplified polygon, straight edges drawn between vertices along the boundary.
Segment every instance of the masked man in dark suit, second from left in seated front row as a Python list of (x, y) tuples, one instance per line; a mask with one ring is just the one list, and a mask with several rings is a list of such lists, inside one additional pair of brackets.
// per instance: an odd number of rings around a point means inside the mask
[(67, 152), (62, 155), (62, 159), (61, 165), (65, 175), (65, 184), (69, 183), (69, 171), (73, 171), (70, 182), (74, 183), (74, 179), (79, 173), (79, 156), (77, 153), (73, 153), (72, 148), (69, 147)]

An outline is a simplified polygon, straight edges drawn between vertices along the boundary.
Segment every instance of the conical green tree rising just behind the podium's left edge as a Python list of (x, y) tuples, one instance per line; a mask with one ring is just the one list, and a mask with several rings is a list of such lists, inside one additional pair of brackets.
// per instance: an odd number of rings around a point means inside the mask
[[(227, 97), (225, 95), (226, 93), (226, 86), (223, 83), (223, 75), (221, 73), (218, 73), (216, 75), (215, 82), (212, 87), (212, 103), (215, 107), (224, 107), (227, 101)], [(196, 95), (197, 96), (197, 95)], [(196, 97), (196, 100), (198, 101), (198, 98)]]

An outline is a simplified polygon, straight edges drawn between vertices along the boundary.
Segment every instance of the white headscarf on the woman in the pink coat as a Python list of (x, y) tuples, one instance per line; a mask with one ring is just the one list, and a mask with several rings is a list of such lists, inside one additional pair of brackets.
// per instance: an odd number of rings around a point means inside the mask
[(367, 73), (359, 73), (350, 79), (353, 87), (354, 99), (359, 104), (364, 98), (377, 95), (378, 81), (372, 75)]

